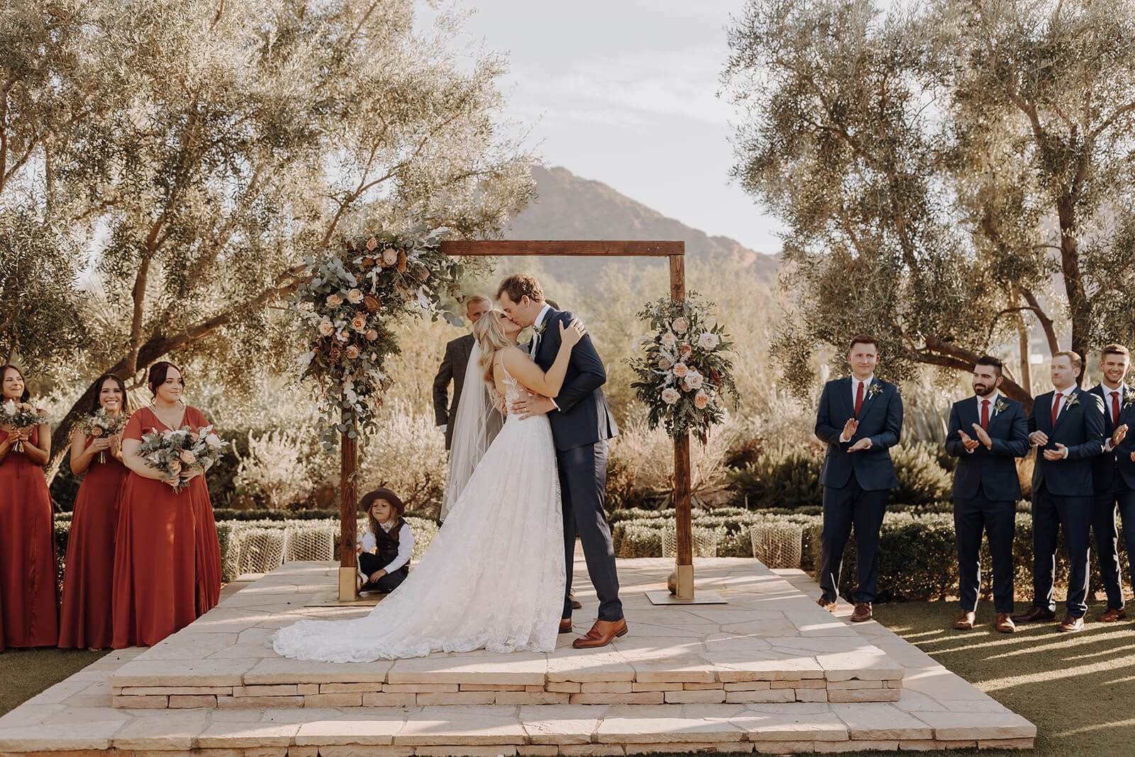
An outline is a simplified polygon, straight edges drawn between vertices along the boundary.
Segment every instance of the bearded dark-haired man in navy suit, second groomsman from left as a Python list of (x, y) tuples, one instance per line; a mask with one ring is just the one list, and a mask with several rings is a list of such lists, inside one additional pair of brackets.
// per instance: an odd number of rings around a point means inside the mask
[(961, 613), (953, 628), (974, 628), (977, 590), (981, 587), (982, 531), (989, 535), (993, 558), (995, 628), (1002, 633), (1012, 624), (1012, 536), (1020, 481), (1017, 457), (1028, 452), (1025, 406), (998, 388), (1001, 361), (989, 355), (974, 365), (974, 396), (953, 403), (945, 451), (958, 459), (953, 472), (953, 530), (961, 569)]

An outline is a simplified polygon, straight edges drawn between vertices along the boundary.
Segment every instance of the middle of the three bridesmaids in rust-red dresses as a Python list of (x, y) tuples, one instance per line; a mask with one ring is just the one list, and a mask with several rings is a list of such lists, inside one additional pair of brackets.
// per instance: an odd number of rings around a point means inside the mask
[[(126, 412), (126, 386), (117, 376), (98, 381), (100, 407), (110, 415)], [(121, 435), (87, 436), (77, 428), (72, 436), (72, 471), (86, 474), (75, 498), (67, 562), (64, 604), (59, 619), (59, 646), (65, 649), (110, 647), (110, 590), (115, 577), (115, 530), (118, 496), (129, 472), (123, 465)]]

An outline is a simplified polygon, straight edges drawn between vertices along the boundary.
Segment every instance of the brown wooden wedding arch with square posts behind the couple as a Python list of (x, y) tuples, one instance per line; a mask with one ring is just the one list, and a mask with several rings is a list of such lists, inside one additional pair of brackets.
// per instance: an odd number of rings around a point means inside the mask
[[(511, 239), (499, 242), (452, 241), (442, 242), (439, 249), (447, 255), (479, 255), (512, 258), (577, 256), (577, 258), (669, 258), (670, 298), (686, 300), (686, 243), (684, 242), (638, 242), (638, 241), (531, 241)], [(340, 446), (340, 491), (339, 518), (342, 547), (339, 555), (339, 600), (353, 602), (355, 589), (355, 519), (358, 508), (358, 485), (354, 472), (359, 449), (355, 439), (343, 435)], [(683, 434), (674, 439), (674, 535), (678, 547), (674, 575), (672, 579), (673, 602), (693, 603), (693, 535), (690, 512), (690, 437)], [(665, 592), (661, 592), (665, 594)], [(715, 594), (715, 592), (709, 592)], [(651, 595), (651, 602), (664, 604)], [(711, 599), (720, 602), (720, 599)]]

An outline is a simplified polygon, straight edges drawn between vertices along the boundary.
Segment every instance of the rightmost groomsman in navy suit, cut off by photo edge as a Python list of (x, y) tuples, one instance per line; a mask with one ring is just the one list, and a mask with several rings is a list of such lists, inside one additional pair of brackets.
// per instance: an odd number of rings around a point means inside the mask
[[(1100, 370), (1103, 379), (1092, 388), (1092, 392), (1103, 399), (1103, 432), (1110, 437), (1107, 451), (1092, 461), (1092, 483), (1095, 486), (1092, 533), (1095, 537), (1095, 554), (1100, 561), (1103, 588), (1108, 594), (1108, 608), (1098, 619), (1101, 623), (1115, 623), (1127, 616), (1127, 611), (1124, 608), (1124, 581), (1119, 575), (1119, 529), (1116, 528), (1116, 505), (1121, 498), (1120, 493), (1129, 489), (1118, 470), (1116, 447), (1126, 438), (1127, 424), (1133, 420), (1128, 405), (1135, 401), (1135, 390), (1124, 384), (1129, 365), (1130, 352), (1127, 347), (1121, 344), (1104, 346), (1100, 351)], [(1125, 522), (1135, 530), (1135, 521), (1128, 518)], [(1135, 539), (1135, 533), (1124, 537), (1125, 540)], [(1132, 554), (1129, 548), (1127, 554), (1128, 556)]]

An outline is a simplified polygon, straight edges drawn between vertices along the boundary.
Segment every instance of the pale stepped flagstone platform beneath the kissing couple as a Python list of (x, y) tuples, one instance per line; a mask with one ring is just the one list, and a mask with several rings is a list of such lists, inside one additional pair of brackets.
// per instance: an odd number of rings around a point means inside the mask
[[(108, 655), (3, 716), (0, 755), (550, 757), (1033, 745), (1035, 726), (886, 629), (816, 608), (815, 583), (799, 571), (698, 561), (698, 586), (730, 604), (654, 607), (641, 590), (657, 589), (669, 569), (662, 560), (620, 561), (630, 634), (605, 650), (564, 648), (565, 636), (550, 655), (295, 667), (267, 646), (271, 631), (365, 608), (305, 606), (333, 569), (286, 565), (239, 591), (230, 584), (221, 605), (166, 642)], [(586, 575), (582, 565), (577, 571)], [(595, 597), (579, 598), (583, 631)], [(901, 688), (888, 685), (899, 678)], [(839, 701), (860, 691), (889, 691), (893, 700)], [(800, 701), (801, 692), (824, 699)]]

